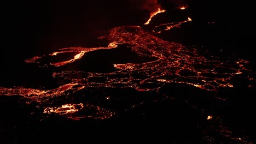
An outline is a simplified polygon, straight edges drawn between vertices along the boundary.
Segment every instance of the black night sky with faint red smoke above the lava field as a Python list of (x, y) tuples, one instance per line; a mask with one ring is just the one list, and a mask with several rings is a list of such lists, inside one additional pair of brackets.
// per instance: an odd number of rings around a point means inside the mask
[(156, 5), (170, 9), (182, 4), (189, 5), (188, 15), (193, 21), (214, 21), (219, 30), (218, 37), (226, 45), (240, 49), (241, 44), (235, 44), (237, 41), (251, 44), (254, 39), (255, 4), (245, 1), (56, 0), (5, 2), (2, 22), (7, 37), (4, 41), (9, 47), (7, 53), (15, 49), (16, 56), (85, 46), (101, 29), (142, 25)]

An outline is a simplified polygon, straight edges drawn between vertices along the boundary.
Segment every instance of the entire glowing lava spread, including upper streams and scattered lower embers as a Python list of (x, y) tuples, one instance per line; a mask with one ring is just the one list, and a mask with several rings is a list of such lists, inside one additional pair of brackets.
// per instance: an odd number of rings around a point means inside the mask
[[(148, 25), (156, 14), (164, 12), (159, 8), (150, 14), (144, 25)], [(22, 97), (20, 101), (26, 101), (29, 106), (36, 105), (40, 110), (38, 115), (46, 117), (54, 113), (72, 120), (102, 120), (118, 117), (119, 113), (136, 109), (148, 101), (174, 99), (162, 92), (170, 84), (193, 87), (203, 91), (204, 97), (213, 94), (214, 100), (222, 102), (228, 98), (226, 95), (219, 97), (219, 89), (237, 85), (235, 77), (247, 82), (244, 87), (256, 86), (255, 73), (247, 68), (248, 61), (231, 57), (224, 60), (196, 47), (165, 41), (154, 35), (188, 21), (191, 21), (189, 17), (186, 21), (162, 23), (154, 27), (153, 34), (139, 26), (114, 27), (98, 38), (107, 41), (108, 46), (66, 47), (49, 55), (27, 58), (28, 65), (32, 63), (38, 68), (50, 69), (50, 78), (57, 82), (57, 86), (52, 89), (0, 87), (0, 95), (8, 98), (19, 95)], [(102, 61), (106, 67), (93, 65), (95, 53), (102, 51), (110, 51), (108, 58), (111, 60)], [(66, 59), (61, 57), (63, 54)], [(124, 57), (130, 59), (124, 61)], [(101, 71), (87, 68), (85, 63), (100, 67)], [(110, 70), (104, 71), (107, 68)], [(197, 109), (202, 110), (201, 107)], [(211, 113), (207, 116), (208, 121), (216, 118)], [(219, 128), (223, 128), (222, 125)], [(221, 131), (224, 130), (220, 129), (219, 133)]]

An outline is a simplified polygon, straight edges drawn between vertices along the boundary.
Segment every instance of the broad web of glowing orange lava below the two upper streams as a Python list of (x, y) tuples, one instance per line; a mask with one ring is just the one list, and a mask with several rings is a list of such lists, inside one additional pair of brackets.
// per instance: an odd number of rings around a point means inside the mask
[[(189, 20), (188, 20), (189, 21)], [(176, 23), (176, 25), (180, 25)], [(174, 25), (174, 26), (176, 26)], [(166, 26), (166, 25), (163, 25)], [(53, 72), (53, 77), (59, 82), (60, 87), (50, 90), (39, 90), (31, 88), (0, 88), (1, 95), (21, 95), (27, 99), (26, 103), (37, 101), (44, 109), (44, 113), (76, 113), (86, 107), (95, 107), (96, 110), (105, 111), (102, 113), (104, 118), (114, 116), (113, 113), (104, 108), (96, 108), (95, 105), (87, 104), (83, 101), (80, 109), (74, 109), (74, 105), (68, 102), (73, 95), (84, 95), (90, 88), (134, 88), (136, 91), (156, 91), (158, 92), (166, 83), (185, 83), (206, 91), (218, 92), (220, 87), (233, 87), (232, 77), (236, 75), (246, 75), (249, 81), (248, 87), (255, 85), (255, 79), (251, 70), (245, 65), (248, 63), (243, 59), (228, 59), (222, 61), (219, 57), (203, 56), (193, 47), (186, 47), (178, 43), (164, 41), (154, 35), (144, 31), (141, 27), (121, 26), (110, 29), (108, 35), (100, 37), (107, 39), (110, 43), (107, 47), (67, 47), (57, 52), (50, 53), (48, 56), (36, 56), (27, 59), (27, 63), (36, 63), (48, 67), (62, 67), (63, 70)], [(92, 51), (127, 49), (137, 53), (138, 56), (151, 58), (152, 61), (144, 63), (114, 63), (114, 71), (109, 73), (86, 72), (82, 70), (70, 69), (71, 65), (79, 66), (77, 60), (84, 61), (85, 55), (90, 55)], [(122, 48), (121, 48), (122, 47)], [(53, 63), (51, 59), (59, 59), (60, 53), (66, 53), (73, 57), (68, 61), (58, 61)], [(73, 56), (72, 56), (73, 55)], [(49, 61), (40, 61), (41, 59)], [(49, 62), (49, 63), (47, 63)], [(69, 66), (68, 66), (69, 65)], [(67, 66), (67, 67), (66, 67)], [(53, 69), (54, 70), (54, 69)], [(137, 76), (135, 76), (137, 75)], [(109, 100), (109, 95), (105, 96)], [(63, 99), (61, 105), (54, 105), (51, 100), (58, 101)], [(162, 97), (164, 98), (164, 97)], [(106, 100), (105, 99), (105, 100)], [(159, 98), (157, 98), (159, 99)], [(225, 100), (226, 98), (218, 98)], [(155, 100), (155, 99), (154, 99)], [(108, 101), (104, 101), (107, 103)], [(143, 100), (138, 100), (130, 105), (134, 107), (142, 104)], [(69, 107), (66, 107), (66, 106)], [(63, 108), (64, 106), (64, 108)], [(56, 107), (56, 108), (53, 108)], [(129, 107), (126, 107), (129, 109)], [(99, 113), (99, 112), (97, 112)], [(102, 116), (91, 115), (98, 118)], [(112, 113), (112, 114), (111, 114)], [(82, 117), (82, 116), (79, 116)], [(85, 115), (84, 117), (88, 117)], [(77, 119), (73, 117), (73, 119)]]

